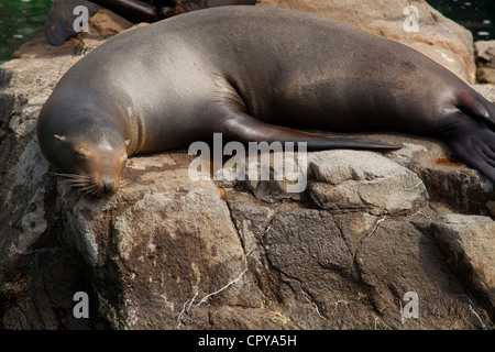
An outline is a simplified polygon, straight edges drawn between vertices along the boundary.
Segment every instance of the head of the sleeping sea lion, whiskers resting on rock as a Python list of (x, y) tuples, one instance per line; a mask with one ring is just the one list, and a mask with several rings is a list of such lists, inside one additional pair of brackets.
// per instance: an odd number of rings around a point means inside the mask
[(127, 142), (116, 125), (98, 119), (79, 119), (72, 125), (38, 124), (38, 143), (45, 157), (72, 187), (88, 195), (114, 191), (128, 160)]

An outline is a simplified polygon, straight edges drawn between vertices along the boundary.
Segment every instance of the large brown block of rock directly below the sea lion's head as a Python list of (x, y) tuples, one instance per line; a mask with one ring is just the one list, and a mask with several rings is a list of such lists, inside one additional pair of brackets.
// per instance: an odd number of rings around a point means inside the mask
[[(141, 157), (127, 169), (125, 193), (95, 199), (59, 187), (67, 240), (86, 258), (112, 327), (179, 327), (245, 270), (242, 245), (213, 182), (193, 182), (182, 155)], [(168, 168), (168, 169), (167, 169)], [(254, 297), (252, 297), (254, 299)], [(182, 312), (182, 314), (180, 314)]]

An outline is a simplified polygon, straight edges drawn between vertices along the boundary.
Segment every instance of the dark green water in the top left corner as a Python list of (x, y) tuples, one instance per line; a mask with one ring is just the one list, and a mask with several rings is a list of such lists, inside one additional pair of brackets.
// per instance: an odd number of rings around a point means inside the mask
[(0, 62), (44, 28), (52, 0), (0, 0)]

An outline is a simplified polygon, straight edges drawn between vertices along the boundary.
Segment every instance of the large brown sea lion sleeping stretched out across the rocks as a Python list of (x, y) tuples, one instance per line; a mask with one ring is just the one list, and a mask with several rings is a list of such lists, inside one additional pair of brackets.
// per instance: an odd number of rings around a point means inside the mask
[(494, 118), (494, 105), (405, 45), (309, 13), (224, 7), (97, 47), (52, 92), (37, 138), (46, 158), (91, 194), (116, 189), (133, 154), (216, 132), (308, 148), (396, 147), (288, 128), (438, 136), (495, 180)]

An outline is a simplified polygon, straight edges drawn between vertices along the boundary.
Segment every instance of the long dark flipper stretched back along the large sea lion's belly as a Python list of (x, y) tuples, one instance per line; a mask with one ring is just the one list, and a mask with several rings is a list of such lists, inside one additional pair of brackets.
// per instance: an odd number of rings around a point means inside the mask
[(378, 141), (351, 139), (343, 136), (318, 135), (256, 120), (242, 111), (231, 111), (222, 123), (223, 138), (230, 141), (248, 142), (306, 142), (308, 150), (398, 150), (400, 145), (387, 144)]

